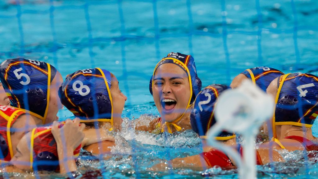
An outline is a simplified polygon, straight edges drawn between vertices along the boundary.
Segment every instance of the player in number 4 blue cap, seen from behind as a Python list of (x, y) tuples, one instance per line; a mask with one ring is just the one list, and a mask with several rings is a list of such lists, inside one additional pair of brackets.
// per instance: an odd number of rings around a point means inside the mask
[[(318, 115), (318, 77), (306, 73), (282, 75), (270, 83), (267, 93), (276, 104), (271, 119), (274, 148), (318, 150), (311, 130)], [(269, 133), (267, 125), (264, 132)]]

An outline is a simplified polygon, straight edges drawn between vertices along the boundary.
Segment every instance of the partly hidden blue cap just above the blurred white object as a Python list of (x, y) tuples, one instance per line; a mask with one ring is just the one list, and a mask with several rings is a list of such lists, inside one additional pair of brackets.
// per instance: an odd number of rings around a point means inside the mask
[(254, 85), (266, 91), (268, 85), (277, 77), (284, 75), (283, 72), (275, 68), (255, 67), (246, 69), (241, 74), (251, 79)]

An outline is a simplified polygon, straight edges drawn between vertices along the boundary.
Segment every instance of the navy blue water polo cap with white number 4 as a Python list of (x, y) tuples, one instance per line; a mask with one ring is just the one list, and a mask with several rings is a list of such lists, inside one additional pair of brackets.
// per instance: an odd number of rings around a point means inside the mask
[(280, 76), (273, 114), (275, 125), (312, 127), (318, 115), (318, 77), (311, 74), (293, 73)]

